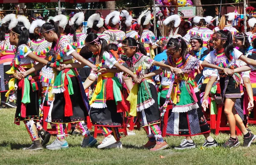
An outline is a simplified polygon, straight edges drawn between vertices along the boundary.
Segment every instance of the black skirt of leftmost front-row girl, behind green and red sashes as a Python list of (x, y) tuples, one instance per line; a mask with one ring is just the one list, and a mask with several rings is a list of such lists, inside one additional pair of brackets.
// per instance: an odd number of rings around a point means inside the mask
[(29, 83), (30, 87), (30, 103), (26, 104), (26, 117), (23, 118), (20, 116), (21, 111), (21, 100), (22, 100), (22, 89), (17, 89), (17, 109), (15, 113), (15, 121), (20, 122), (23, 120), (39, 120), (39, 91), (33, 91), (32, 85)]

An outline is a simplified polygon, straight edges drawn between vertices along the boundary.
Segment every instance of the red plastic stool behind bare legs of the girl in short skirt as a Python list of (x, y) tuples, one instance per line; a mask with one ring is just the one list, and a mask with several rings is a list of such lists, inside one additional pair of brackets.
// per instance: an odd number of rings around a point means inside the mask
[[(215, 135), (218, 135), (220, 131), (230, 130), (230, 127), (227, 126), (226, 122), (227, 117), (225, 115), (222, 115), (223, 107), (223, 105), (218, 105)], [(238, 127), (236, 127), (236, 135), (242, 135)]]

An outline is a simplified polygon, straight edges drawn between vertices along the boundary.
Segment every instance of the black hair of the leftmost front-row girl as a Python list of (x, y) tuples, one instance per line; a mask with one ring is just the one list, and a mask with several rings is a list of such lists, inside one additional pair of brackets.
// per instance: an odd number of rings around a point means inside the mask
[(26, 29), (22, 22), (18, 22), (17, 25), (12, 28), (12, 32), (17, 33), (17, 37), (19, 38), (17, 48), (19, 48), (22, 44), (28, 44), (29, 42), (29, 30)]

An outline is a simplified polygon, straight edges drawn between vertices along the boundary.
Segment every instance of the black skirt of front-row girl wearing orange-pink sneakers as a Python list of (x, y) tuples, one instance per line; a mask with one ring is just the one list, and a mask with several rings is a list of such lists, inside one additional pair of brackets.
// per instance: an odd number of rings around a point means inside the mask
[(154, 104), (138, 113), (138, 119), (142, 126), (160, 123), (160, 110), (158, 107), (157, 89), (152, 83), (148, 83)]

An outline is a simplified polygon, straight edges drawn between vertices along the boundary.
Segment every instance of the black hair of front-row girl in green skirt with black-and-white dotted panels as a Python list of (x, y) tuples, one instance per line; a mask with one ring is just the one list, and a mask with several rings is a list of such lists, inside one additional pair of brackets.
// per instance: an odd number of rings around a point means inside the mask
[(170, 38), (167, 45), (166, 45), (166, 48), (167, 49), (170, 49), (172, 47), (174, 50), (178, 50), (181, 48), (181, 57), (182, 57), (182, 61), (183, 62), (186, 62), (186, 55), (188, 54), (188, 46), (186, 45), (186, 41), (184, 41), (184, 39), (182, 37), (178, 37), (178, 38)]

